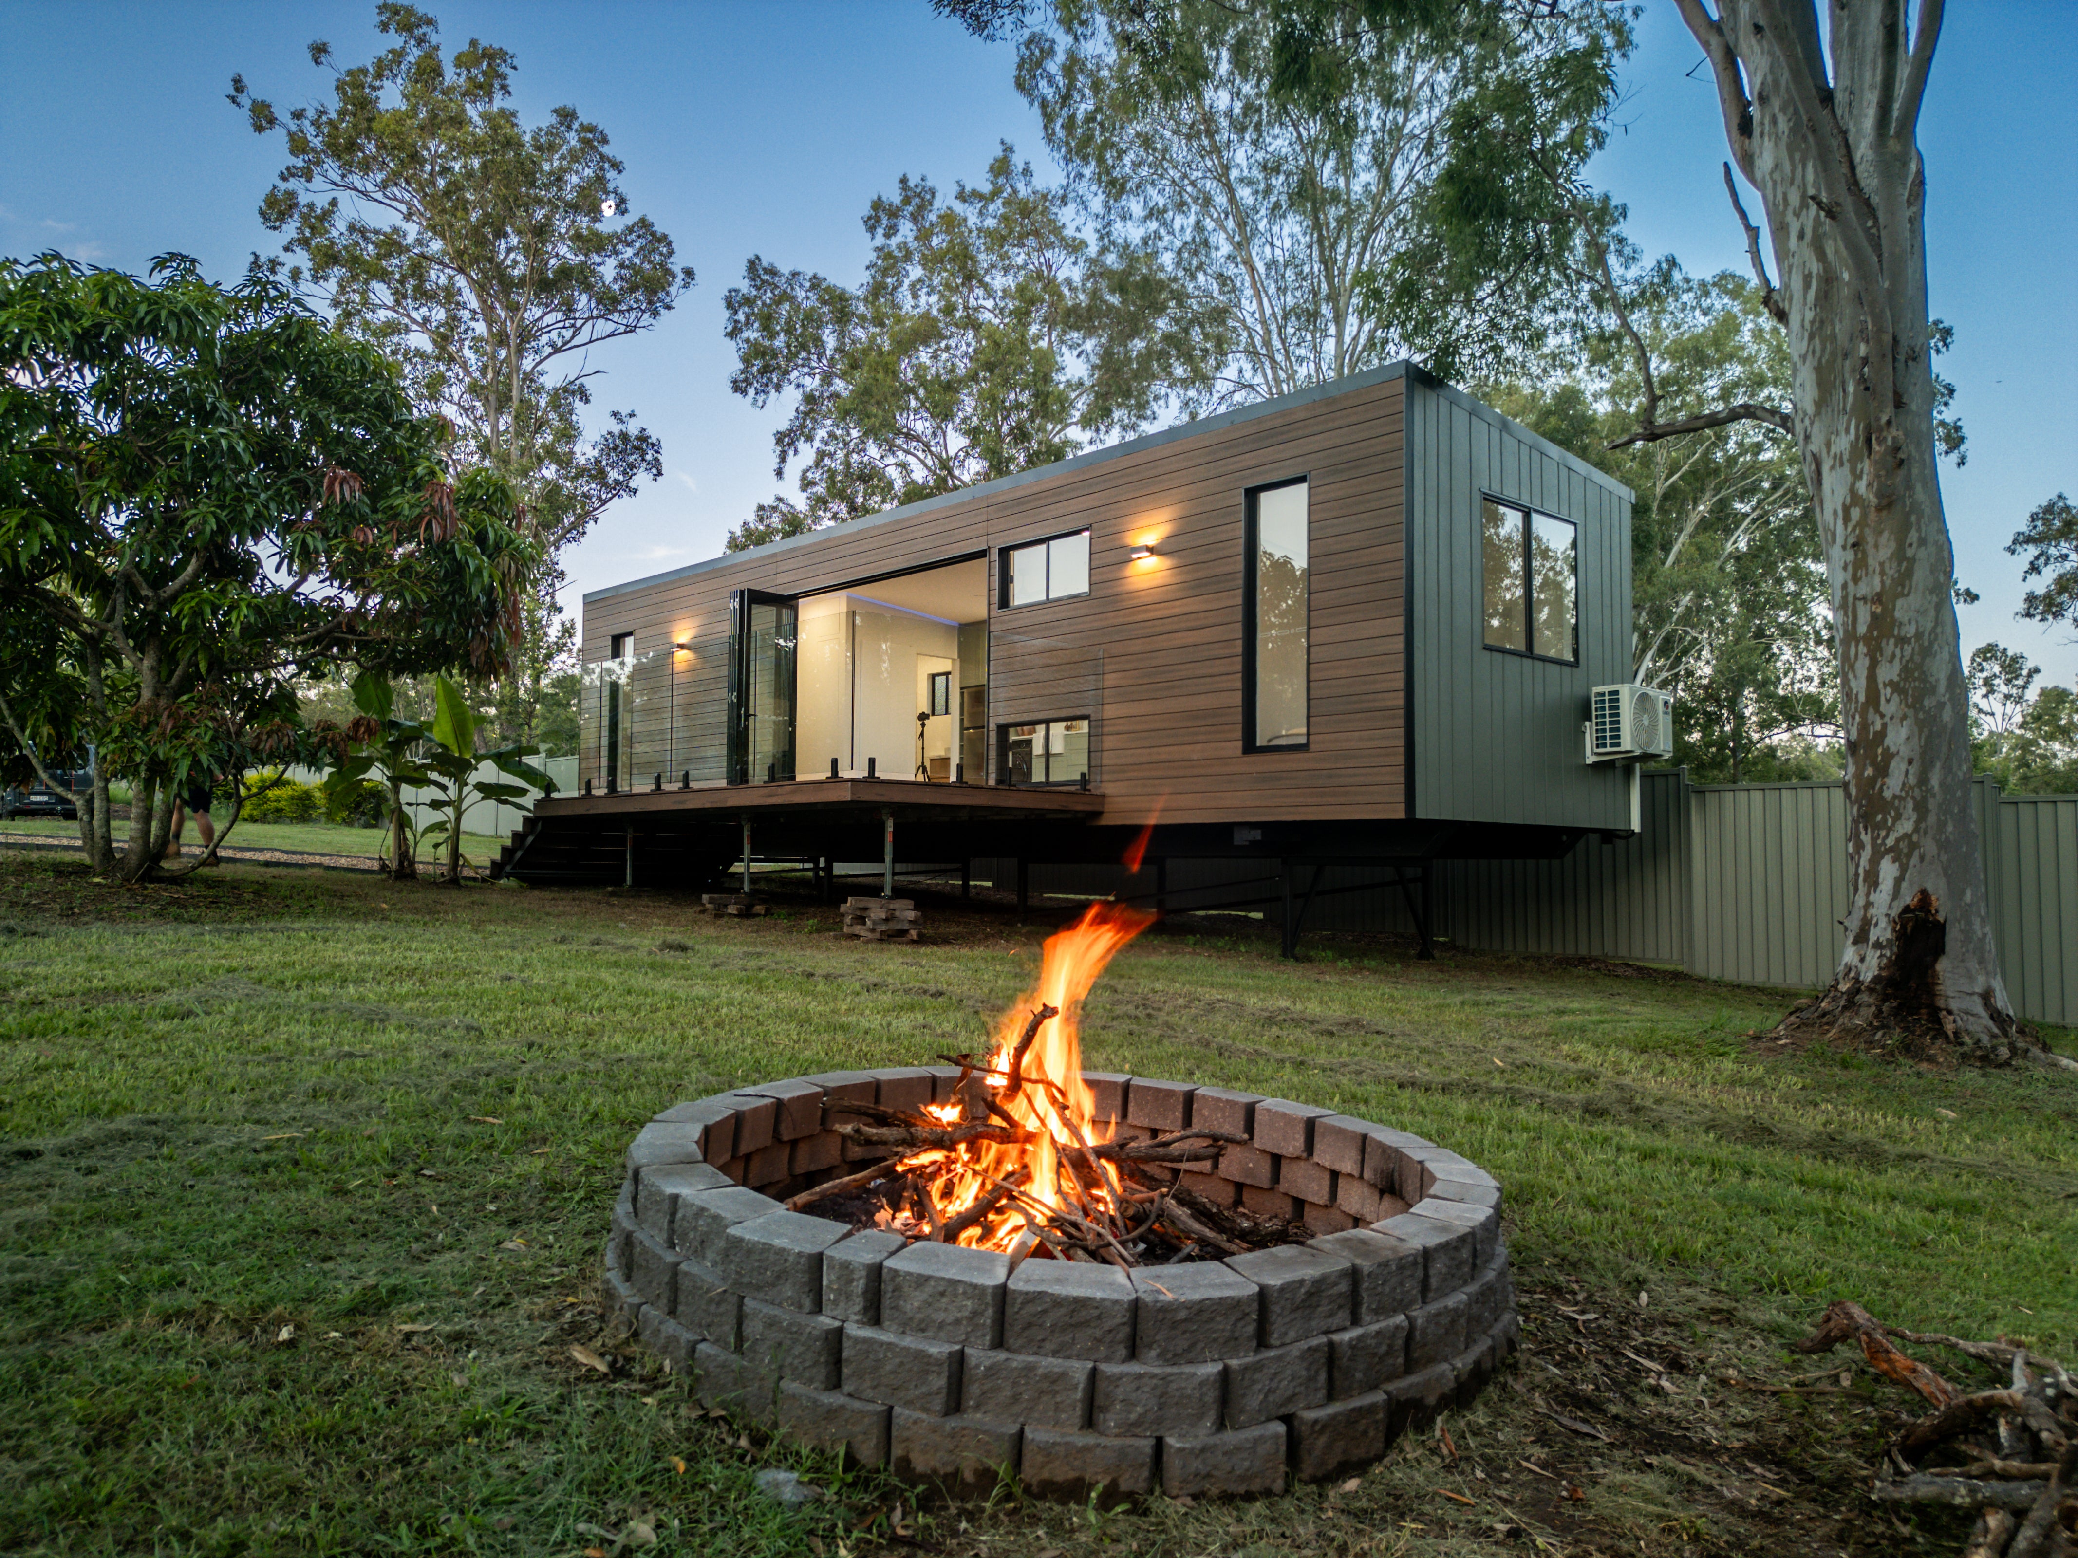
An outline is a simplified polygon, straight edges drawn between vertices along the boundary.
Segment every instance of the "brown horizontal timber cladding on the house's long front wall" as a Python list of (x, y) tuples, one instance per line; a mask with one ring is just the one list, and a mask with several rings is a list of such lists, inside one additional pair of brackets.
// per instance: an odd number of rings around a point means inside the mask
[[(1386, 378), (588, 600), (588, 663), (636, 636), (632, 781), (721, 777), (731, 588), (825, 590), (1089, 526), (1087, 596), (991, 600), (991, 748), (1000, 723), (1093, 717), (1108, 823), (1155, 802), (1170, 823), (1403, 816), (1403, 380)], [(1293, 476), (1311, 480), (1311, 746), (1243, 754), (1245, 492)], [(1149, 536), (1160, 561), (1130, 565)], [(596, 698), (584, 713), (596, 779)]]

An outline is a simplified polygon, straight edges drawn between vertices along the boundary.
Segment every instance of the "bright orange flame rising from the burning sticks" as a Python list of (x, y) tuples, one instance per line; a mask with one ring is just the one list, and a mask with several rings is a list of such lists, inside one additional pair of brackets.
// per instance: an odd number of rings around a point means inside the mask
[[(941, 1174), (931, 1190), (931, 1209), (941, 1224), (968, 1211), (1018, 1170), (1027, 1172), (1020, 1192), (1029, 1203), (1047, 1209), (1066, 1203), (1062, 1174), (1076, 1174), (1076, 1170), (1062, 1161), (1062, 1151), (1110, 1140), (1108, 1126), (1095, 1118), (1095, 1095), (1083, 1082), (1083, 997), (1089, 995), (1089, 987), (1097, 983), (1097, 974), (1118, 949), (1153, 922), (1153, 914), (1126, 904), (1091, 904), (1074, 924), (1047, 937), (1039, 983), (997, 1018), (993, 1049), (983, 1074), (997, 1109), (1016, 1120), (1031, 1134), (1031, 1140), (975, 1140), (945, 1153), (912, 1157), (912, 1167), (952, 1165), (952, 1172)], [(1047, 1005), (1056, 1010), (1056, 1016), (1039, 1024), (1022, 1064), (1018, 1064), (1018, 1041), (1033, 1014)], [(1012, 1066), (1018, 1068), (1020, 1080), (1014, 1093), (1010, 1091)], [(960, 1105), (933, 1103), (927, 1105), (927, 1113), (933, 1120), (956, 1124)], [(1087, 1174), (1087, 1170), (1083, 1172)], [(1095, 1201), (1108, 1201), (1116, 1190), (1114, 1184), (1085, 1184), (1083, 1188)], [(1024, 1217), (1016, 1207), (1016, 1197), (1004, 1199), (987, 1217), (960, 1230), (956, 1242), (979, 1248), (1010, 1248), (1024, 1232)]]

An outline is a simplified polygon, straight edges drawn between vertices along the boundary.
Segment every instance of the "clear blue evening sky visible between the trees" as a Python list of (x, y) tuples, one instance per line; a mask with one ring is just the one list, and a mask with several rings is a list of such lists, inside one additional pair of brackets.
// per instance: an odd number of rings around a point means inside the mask
[[(1010, 139), (1045, 164), (1010, 85), (1012, 50), (937, 21), (925, 0), (871, 4), (438, 4), (449, 48), (472, 33), (520, 56), (515, 100), (601, 123), (636, 210), (677, 243), (698, 287), (655, 332), (598, 357), (596, 405), (634, 407), (665, 478), (569, 559), (571, 596), (711, 557), (779, 484), (779, 407), (729, 393), (721, 297), (744, 260), (856, 280), (860, 214), (898, 174), (981, 177)], [(2018, 623), (2003, 544), (2049, 494), (2078, 492), (2078, 6), (1951, 6), (1920, 141), (1928, 164), (1933, 312), (1955, 326), (1970, 461), (1943, 480), (1957, 569), (1984, 600), (1964, 648), (1997, 638), (2059, 681), (2078, 644)], [(44, 247), (129, 270), (183, 249), (233, 278), (278, 247), (256, 206), (283, 162), (224, 102), (231, 75), (287, 108), (328, 93), (314, 37), (376, 50), (372, 4), (0, 6), (0, 253)], [(1746, 266), (1725, 202), (1723, 127), (1700, 50), (1671, 0), (1648, 0), (1625, 73), (1623, 131), (1594, 179), (1627, 202), (1648, 253), (1694, 272)]]

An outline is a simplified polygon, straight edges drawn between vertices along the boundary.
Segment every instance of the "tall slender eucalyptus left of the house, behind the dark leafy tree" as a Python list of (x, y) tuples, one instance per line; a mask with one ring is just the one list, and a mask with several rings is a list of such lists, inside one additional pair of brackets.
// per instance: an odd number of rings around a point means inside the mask
[[(397, 42), (368, 64), (341, 69), (330, 44), (310, 46), (332, 71), (330, 104), (281, 112), (231, 81), (254, 133), (278, 133), (289, 154), (260, 218), (291, 260), (266, 264), (403, 361), (472, 459), (513, 484), (547, 602), (530, 629), (549, 638), (561, 553), (663, 474), (632, 411), (588, 436), (596, 349), (652, 330), (694, 274), (634, 214), (598, 125), (569, 106), (528, 125), (511, 108), (511, 50), (472, 37), (443, 56), (438, 21), (389, 0), (376, 29)], [(526, 706), (538, 688), (499, 696)]]

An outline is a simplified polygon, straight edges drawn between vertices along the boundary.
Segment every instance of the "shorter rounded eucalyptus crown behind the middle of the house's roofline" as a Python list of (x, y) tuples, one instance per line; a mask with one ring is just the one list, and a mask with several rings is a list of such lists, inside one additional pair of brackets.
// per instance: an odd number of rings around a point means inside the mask
[(1149, 422), (1216, 357), (1211, 322), (1149, 258), (1093, 251), (1008, 145), (950, 199), (904, 174), (864, 226), (858, 287), (752, 256), (727, 293), (729, 388), (796, 397), (773, 474), (802, 459), (802, 501), (758, 505), (731, 550), (1066, 459)]

